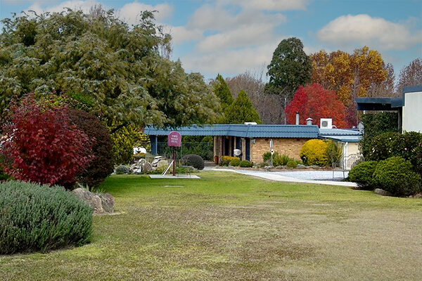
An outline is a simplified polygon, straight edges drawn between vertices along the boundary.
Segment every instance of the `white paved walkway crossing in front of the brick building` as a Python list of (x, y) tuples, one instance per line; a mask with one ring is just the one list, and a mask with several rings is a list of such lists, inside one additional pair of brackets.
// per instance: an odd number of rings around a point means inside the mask
[[(216, 169), (206, 168), (211, 171), (231, 171), (233, 173), (257, 176), (258, 178), (266, 178), (271, 181), (287, 181), (292, 183), (315, 183), (325, 185), (341, 185), (356, 187), (356, 183), (350, 183), (348, 181), (330, 181), (332, 178), (332, 171), (251, 171), (251, 170), (235, 170), (235, 169)], [(340, 171), (335, 171), (335, 176), (339, 176)], [(341, 172), (343, 177), (343, 172)], [(347, 176), (347, 174), (345, 175)], [(314, 180), (309, 178), (318, 178), (321, 180)], [(324, 178), (324, 180), (322, 180)]]

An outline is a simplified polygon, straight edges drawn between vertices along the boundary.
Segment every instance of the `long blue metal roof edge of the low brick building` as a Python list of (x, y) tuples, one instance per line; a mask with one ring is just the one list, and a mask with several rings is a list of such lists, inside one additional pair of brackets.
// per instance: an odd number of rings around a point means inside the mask
[(316, 125), (266, 125), (266, 124), (214, 124), (192, 125), (177, 129), (155, 129), (146, 126), (144, 133), (152, 136), (167, 136), (178, 131), (181, 136), (238, 136), (241, 138), (317, 138)]

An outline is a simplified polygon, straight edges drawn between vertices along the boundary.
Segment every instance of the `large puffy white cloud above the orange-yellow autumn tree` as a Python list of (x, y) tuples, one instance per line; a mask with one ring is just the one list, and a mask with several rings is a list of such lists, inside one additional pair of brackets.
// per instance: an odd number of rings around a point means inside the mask
[(369, 15), (342, 15), (316, 33), (320, 41), (336, 46), (352, 43), (383, 50), (406, 50), (422, 41), (422, 30), (411, 32), (402, 23)]

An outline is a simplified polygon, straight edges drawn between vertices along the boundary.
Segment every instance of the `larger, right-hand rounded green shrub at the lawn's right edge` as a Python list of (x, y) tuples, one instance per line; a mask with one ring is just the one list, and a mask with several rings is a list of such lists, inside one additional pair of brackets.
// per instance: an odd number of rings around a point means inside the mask
[(414, 195), (421, 191), (421, 176), (412, 171), (411, 163), (402, 157), (380, 161), (373, 172), (378, 187), (392, 195)]

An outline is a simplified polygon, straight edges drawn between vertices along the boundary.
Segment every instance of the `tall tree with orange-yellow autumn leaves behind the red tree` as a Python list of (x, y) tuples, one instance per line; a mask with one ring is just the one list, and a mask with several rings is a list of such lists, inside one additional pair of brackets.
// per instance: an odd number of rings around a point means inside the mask
[[(347, 108), (347, 126), (356, 126), (354, 98), (386, 96), (393, 93), (394, 72), (385, 66), (381, 53), (367, 46), (349, 54), (343, 51), (319, 51), (312, 60), (312, 82), (333, 90)], [(389, 81), (390, 83), (385, 83)]]

